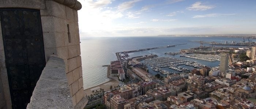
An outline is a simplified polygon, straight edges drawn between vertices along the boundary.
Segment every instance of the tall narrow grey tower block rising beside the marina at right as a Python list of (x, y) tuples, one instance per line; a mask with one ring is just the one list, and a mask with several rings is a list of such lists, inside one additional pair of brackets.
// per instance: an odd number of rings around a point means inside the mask
[(222, 73), (226, 73), (229, 65), (229, 53), (221, 53), (221, 61), (220, 61), (220, 67), (219, 70)]

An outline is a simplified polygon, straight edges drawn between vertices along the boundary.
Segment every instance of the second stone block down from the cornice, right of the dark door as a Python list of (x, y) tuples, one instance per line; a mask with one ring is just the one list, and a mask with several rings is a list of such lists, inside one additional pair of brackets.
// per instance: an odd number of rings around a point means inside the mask
[(53, 16), (41, 16), (42, 31), (43, 32), (65, 32), (67, 25), (64, 19)]

